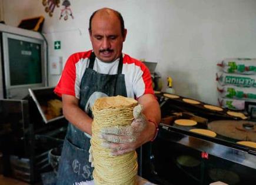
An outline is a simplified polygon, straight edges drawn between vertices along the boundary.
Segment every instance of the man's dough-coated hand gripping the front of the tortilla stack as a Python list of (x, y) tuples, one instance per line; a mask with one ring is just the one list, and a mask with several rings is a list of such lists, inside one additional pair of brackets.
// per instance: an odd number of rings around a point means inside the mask
[(137, 149), (154, 137), (155, 125), (142, 114), (142, 106), (134, 107), (134, 120), (131, 126), (107, 127), (99, 137), (104, 139), (102, 146), (111, 150), (111, 155), (121, 155)]

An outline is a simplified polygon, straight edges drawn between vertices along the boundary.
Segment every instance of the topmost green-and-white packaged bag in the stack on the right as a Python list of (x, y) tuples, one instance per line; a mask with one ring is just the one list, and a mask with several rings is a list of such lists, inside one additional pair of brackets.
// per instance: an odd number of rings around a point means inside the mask
[(245, 75), (256, 75), (256, 59), (230, 58), (224, 59), (217, 64), (226, 73), (240, 73)]

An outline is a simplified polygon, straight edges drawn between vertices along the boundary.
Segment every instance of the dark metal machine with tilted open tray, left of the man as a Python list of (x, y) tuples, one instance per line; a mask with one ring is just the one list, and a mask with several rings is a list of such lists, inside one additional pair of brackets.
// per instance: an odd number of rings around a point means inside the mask
[[(41, 179), (41, 173), (52, 170), (48, 153), (62, 146), (67, 130), (67, 120), (62, 113), (51, 119), (42, 116), (47, 113), (42, 109), (49, 108), (49, 101), (61, 101), (53, 90), (30, 89), (33, 98), (28, 95), (22, 100), (0, 100), (0, 150), (5, 176), (35, 183)], [(56, 110), (59, 111), (59, 106)]]

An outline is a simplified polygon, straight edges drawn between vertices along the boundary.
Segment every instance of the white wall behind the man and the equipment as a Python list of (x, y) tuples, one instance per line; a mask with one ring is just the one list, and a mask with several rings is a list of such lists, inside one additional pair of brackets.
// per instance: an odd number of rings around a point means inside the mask
[[(44, 12), (42, 1), (2, 0), (5, 22), (17, 26), (24, 18), (45, 16), (49, 55), (68, 58), (91, 49), (89, 16), (102, 7), (117, 9), (128, 29), (123, 52), (157, 61), (165, 79), (171, 75), (179, 95), (217, 104), (216, 63), (223, 58), (256, 58), (255, 0), (70, 0), (75, 19), (59, 21)], [(62, 49), (54, 51), (54, 41)], [(50, 76), (56, 85), (59, 76)]]

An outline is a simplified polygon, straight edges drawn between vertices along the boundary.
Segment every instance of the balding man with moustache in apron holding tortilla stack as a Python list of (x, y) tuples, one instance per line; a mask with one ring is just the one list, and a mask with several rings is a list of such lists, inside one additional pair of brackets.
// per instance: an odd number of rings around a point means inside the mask
[(105, 147), (112, 149), (112, 155), (135, 150), (157, 134), (161, 116), (151, 75), (143, 63), (122, 54), (126, 35), (127, 29), (119, 12), (99, 9), (89, 20), (93, 51), (75, 53), (67, 60), (55, 88), (55, 93), (62, 96), (63, 113), (70, 122), (57, 184), (92, 180), (88, 135), (92, 134), (91, 107), (98, 97), (136, 97), (143, 106), (145, 119), (135, 119), (130, 127), (102, 130), (99, 137), (105, 140)]

